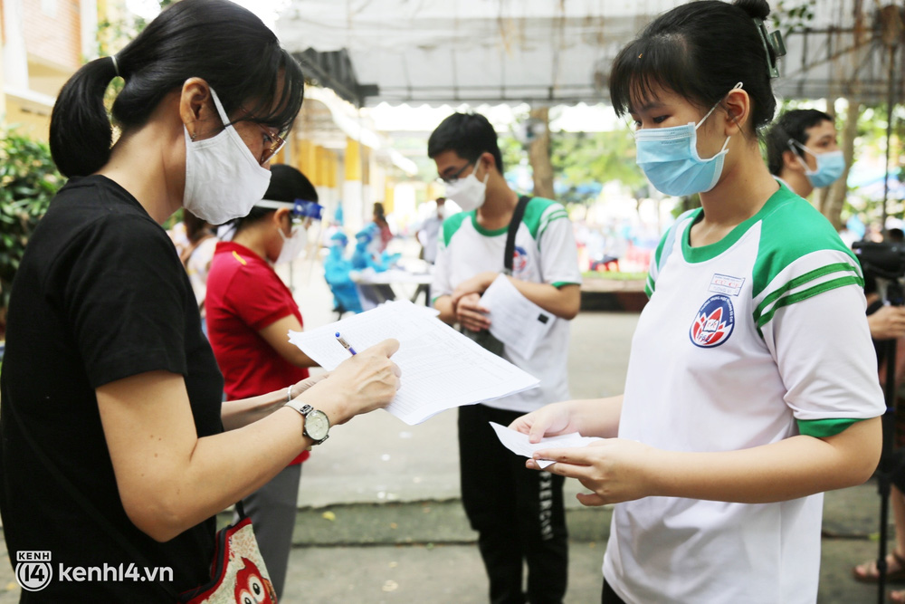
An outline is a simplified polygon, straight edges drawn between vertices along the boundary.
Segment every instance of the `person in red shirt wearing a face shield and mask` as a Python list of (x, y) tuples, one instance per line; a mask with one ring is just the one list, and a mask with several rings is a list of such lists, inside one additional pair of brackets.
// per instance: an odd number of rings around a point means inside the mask
[[(248, 216), (235, 218), (207, 276), (207, 331), (224, 374), (227, 400), (251, 398), (308, 378), (317, 363), (286, 339), (301, 331), (299, 305), (274, 271), (304, 250), (318, 193), (298, 169), (271, 166), (271, 183)], [(319, 207), (319, 206), (318, 206)], [(306, 216), (309, 215), (309, 216)], [(282, 595), (295, 526), (303, 451), (280, 474), (243, 499), (270, 571)]]

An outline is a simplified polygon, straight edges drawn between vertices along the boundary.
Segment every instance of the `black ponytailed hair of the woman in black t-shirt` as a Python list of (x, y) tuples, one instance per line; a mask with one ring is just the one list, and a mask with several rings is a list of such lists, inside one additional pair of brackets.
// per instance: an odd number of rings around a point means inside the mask
[(159, 102), (192, 77), (207, 81), (227, 114), (243, 106), (242, 120), (288, 130), (305, 83), (299, 63), (247, 9), (229, 0), (173, 3), (115, 58), (86, 63), (62, 87), (50, 146), (65, 176), (91, 174), (110, 160), (112, 128), (103, 99), (117, 75), (125, 84), (112, 118), (124, 133), (145, 124)]

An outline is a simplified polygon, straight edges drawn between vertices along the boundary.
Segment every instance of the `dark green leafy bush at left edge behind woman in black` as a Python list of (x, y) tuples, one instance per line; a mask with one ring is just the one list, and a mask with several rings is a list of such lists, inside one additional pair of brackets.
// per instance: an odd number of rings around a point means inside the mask
[(61, 186), (46, 143), (0, 129), (0, 308), (28, 238)]

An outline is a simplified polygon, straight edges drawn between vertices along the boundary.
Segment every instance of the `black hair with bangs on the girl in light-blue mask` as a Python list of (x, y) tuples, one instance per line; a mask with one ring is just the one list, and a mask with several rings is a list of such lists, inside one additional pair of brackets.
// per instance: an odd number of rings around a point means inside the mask
[(766, 0), (700, 0), (660, 15), (613, 61), (616, 114), (630, 113), (633, 100), (655, 98), (658, 88), (708, 110), (741, 81), (751, 98), (753, 129), (766, 126), (776, 112), (768, 68), (776, 53), (771, 47), (767, 56), (755, 19), (768, 14)]

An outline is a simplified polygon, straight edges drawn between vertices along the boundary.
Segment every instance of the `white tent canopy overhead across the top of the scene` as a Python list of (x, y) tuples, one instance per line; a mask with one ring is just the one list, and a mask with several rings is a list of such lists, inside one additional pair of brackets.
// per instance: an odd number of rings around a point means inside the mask
[[(880, 43), (874, 16), (878, 9), (864, 3), (859, 47), (853, 34), (854, 3), (816, 0), (814, 18), (806, 24), (809, 33), (786, 36), (789, 53), (781, 64), (783, 77), (776, 82), (779, 94), (886, 98), (889, 52)], [(350, 99), (367, 105), (574, 104), (605, 100), (615, 54), (656, 14), (679, 4), (678, 0), (292, 0), (277, 29), (293, 53), (344, 53), (347, 81), (376, 85), (376, 90), (372, 87)], [(771, 5), (776, 9), (776, 2)], [(855, 74), (858, 83), (853, 87)]]

